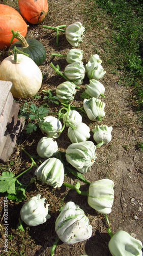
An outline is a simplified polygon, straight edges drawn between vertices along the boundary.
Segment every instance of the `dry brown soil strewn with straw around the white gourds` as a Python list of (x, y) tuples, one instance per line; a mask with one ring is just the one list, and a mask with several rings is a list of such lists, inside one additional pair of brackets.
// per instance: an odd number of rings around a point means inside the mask
[[(0, 3), (4, 3), (0, 1)], [(89, 2), (89, 5), (92, 4)], [(7, 1), (7, 5), (15, 7), (14, 1)], [(70, 25), (74, 22), (81, 22), (82, 25), (88, 27), (90, 20), (84, 20), (82, 10), (84, 8), (84, 1), (72, 0), (72, 1), (49, 1), (49, 11), (43, 22), (39, 25), (28, 24), (28, 32), (26, 38), (33, 37), (42, 42), (45, 47), (47, 58), (43, 65), (40, 66), (42, 74), (44, 75), (42, 87), (39, 91), (40, 99), (32, 98), (30, 103), (35, 103), (38, 106), (43, 104), (45, 95), (42, 90), (52, 89), (54, 90), (64, 79), (56, 75), (49, 63), (53, 62), (54, 65), (59, 65), (61, 72), (64, 71), (67, 65), (65, 58), (52, 57), (51, 53), (67, 54), (68, 50), (72, 49), (72, 46), (68, 44), (65, 34), (60, 33), (59, 47), (55, 46), (56, 34), (52, 30), (43, 29), (43, 25), (59, 26)], [(17, 9), (18, 10), (18, 9)], [(105, 23), (104, 17), (98, 17), (98, 22)], [(95, 30), (96, 35), (95, 36)], [(87, 63), (90, 55), (95, 54), (94, 44), (98, 49), (99, 56), (103, 56), (103, 67), (106, 71), (104, 77), (100, 80), (105, 87), (105, 117), (101, 122), (92, 122), (86, 115), (83, 116), (82, 121), (87, 123), (91, 128), (90, 140), (93, 140), (92, 129), (94, 125), (106, 124), (112, 126), (112, 140), (109, 144), (103, 145), (96, 149), (96, 162), (93, 164), (91, 171), (84, 174), (84, 178), (89, 182), (108, 178), (115, 183), (115, 200), (112, 206), (111, 214), (108, 218), (110, 221), (112, 232), (117, 230), (125, 230), (133, 237), (139, 239), (143, 243), (143, 153), (136, 147), (137, 141), (142, 141), (142, 126), (139, 123), (137, 114), (133, 111), (131, 104), (131, 90), (125, 86), (125, 84), (118, 84), (119, 77), (122, 74), (119, 71), (118, 74), (111, 73), (111, 66), (107, 65), (104, 61), (104, 55), (106, 52), (102, 48), (102, 42), (106, 38), (110, 40), (110, 34), (106, 33), (106, 29), (99, 30), (98, 28), (87, 29), (84, 33), (83, 42), (81, 42), (79, 49), (84, 51), (83, 62)], [(111, 31), (108, 27), (108, 31)], [(91, 44), (91, 41), (94, 44)], [(1, 51), (1, 61), (7, 56), (7, 51)], [(87, 76), (83, 81), (80, 90), (77, 90), (72, 104), (82, 106), (82, 99), (80, 94), (85, 89), (85, 84), (89, 80)], [(24, 100), (16, 100), (21, 105)], [(58, 112), (61, 105), (55, 105), (54, 103), (49, 105), (51, 112)], [(32, 155), (37, 155), (36, 147), (37, 143), (43, 135), (40, 131), (33, 132), (31, 135), (27, 135), (23, 130), (15, 150), (11, 155), (8, 164), (14, 161), (14, 166), (11, 166), (11, 171), (14, 174), (20, 173), (24, 168), (28, 168), (31, 162), (30, 159), (22, 152), (23, 147), (27, 152)], [(65, 151), (68, 145), (71, 144), (67, 137), (67, 130), (61, 134), (57, 139), (59, 150)], [(9, 165), (10, 166), (10, 165)], [(3, 165), (0, 165), (0, 168)], [(35, 167), (32, 171), (22, 177), (24, 184), (30, 181), (30, 178), (34, 177)], [(76, 179), (72, 175), (67, 175), (65, 181), (75, 184)], [(88, 190), (88, 185), (81, 183), (81, 190)], [(50, 255), (51, 246), (55, 240), (56, 233), (54, 231), (54, 223), (56, 217), (59, 215), (59, 207), (61, 200), (69, 191), (65, 197), (63, 204), (68, 201), (73, 201), (78, 204), (89, 217), (90, 224), (93, 226), (92, 237), (84, 242), (76, 243), (73, 245), (66, 245), (63, 242), (59, 242), (55, 249), (55, 256), (80, 256), (81, 254), (87, 254), (89, 256), (104, 256), (111, 255), (108, 250), (109, 235), (107, 233), (107, 223), (103, 215), (98, 214), (97, 211), (92, 209), (87, 202), (87, 198), (79, 196), (76, 191), (70, 190), (64, 186), (61, 188), (55, 188), (48, 185), (41, 185), (40, 182), (31, 184), (26, 189), (26, 198), (29, 199), (38, 193), (42, 197), (47, 199), (50, 204), (51, 218), (46, 223), (37, 227), (28, 227), (23, 224), (24, 232), (17, 230), (18, 218), (20, 217), (20, 209), (23, 205), (23, 201), (16, 203), (12, 200), (9, 201), (8, 214), (9, 214), (9, 252), (4, 253), (4, 223), (3, 223), (3, 209), (4, 201), (3, 194), (1, 194), (1, 234), (0, 248), (1, 255)], [(26, 201), (26, 200), (25, 200)]]

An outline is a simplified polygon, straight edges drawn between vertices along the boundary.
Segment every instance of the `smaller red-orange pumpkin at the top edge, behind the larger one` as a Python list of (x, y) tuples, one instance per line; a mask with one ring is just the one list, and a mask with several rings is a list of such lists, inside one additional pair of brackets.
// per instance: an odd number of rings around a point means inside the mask
[(32, 24), (39, 24), (48, 12), (47, 0), (18, 0), (21, 15)]

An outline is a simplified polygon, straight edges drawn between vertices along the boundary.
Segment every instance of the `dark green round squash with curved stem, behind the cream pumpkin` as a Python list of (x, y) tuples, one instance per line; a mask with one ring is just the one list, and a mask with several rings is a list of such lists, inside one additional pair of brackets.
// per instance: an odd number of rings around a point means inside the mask
[(14, 38), (17, 38), (19, 41), (14, 42), (13, 45), (9, 48), (9, 55), (12, 54), (12, 50), (16, 46), (16, 48), (26, 54), (29, 55), (34, 62), (40, 66), (45, 58), (46, 58), (46, 51), (42, 43), (34, 38), (27, 38), (25, 39), (18, 31), (12, 31), (12, 38), (10, 42), (13, 41)]

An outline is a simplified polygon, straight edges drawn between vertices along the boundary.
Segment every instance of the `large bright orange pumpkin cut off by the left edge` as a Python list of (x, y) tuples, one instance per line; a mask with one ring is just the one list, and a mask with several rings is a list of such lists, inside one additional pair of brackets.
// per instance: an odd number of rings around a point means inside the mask
[[(0, 50), (10, 47), (11, 29), (18, 30), (25, 37), (27, 24), (14, 8), (0, 4)], [(13, 42), (15, 41), (17, 41), (16, 38), (14, 38)]]

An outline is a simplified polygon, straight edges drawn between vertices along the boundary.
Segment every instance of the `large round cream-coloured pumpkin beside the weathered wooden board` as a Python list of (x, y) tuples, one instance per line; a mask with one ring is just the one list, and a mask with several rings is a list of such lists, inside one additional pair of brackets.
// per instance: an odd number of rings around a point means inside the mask
[(34, 96), (42, 84), (42, 72), (36, 63), (23, 54), (5, 58), (0, 65), (0, 80), (11, 81), (11, 93), (15, 98), (28, 98)]

